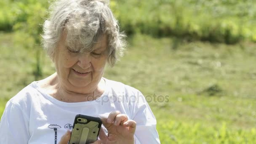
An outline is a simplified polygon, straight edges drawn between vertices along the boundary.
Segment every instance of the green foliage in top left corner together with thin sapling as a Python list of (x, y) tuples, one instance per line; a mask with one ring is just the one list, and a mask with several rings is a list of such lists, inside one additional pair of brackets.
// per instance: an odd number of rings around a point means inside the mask
[[(28, 34), (27, 37), (19, 37), (17, 41), (27, 41), (32, 39), (32, 45), (24, 43), (28, 49), (35, 49), (35, 58), (37, 59), (34, 72), (35, 80), (42, 77), (41, 66), (41, 48), (40, 34), (42, 33), (42, 24), (47, 17), (46, 8), (48, 2), (45, 0), (4, 0), (0, 2), (3, 9), (0, 10), (0, 30), (14, 30), (19, 33)], [(30, 43), (31, 44), (31, 43)]]

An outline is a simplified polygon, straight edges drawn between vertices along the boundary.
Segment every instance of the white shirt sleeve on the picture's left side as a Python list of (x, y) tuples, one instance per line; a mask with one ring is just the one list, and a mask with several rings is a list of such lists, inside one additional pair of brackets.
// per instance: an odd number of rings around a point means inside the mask
[(29, 121), (19, 105), (8, 101), (0, 121), (0, 141), (3, 144), (27, 144)]

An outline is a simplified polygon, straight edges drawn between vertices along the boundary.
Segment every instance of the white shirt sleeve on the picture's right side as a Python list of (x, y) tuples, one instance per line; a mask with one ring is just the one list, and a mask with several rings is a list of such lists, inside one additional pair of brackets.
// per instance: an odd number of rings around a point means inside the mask
[(139, 92), (137, 105), (134, 107), (133, 120), (136, 121), (135, 144), (160, 144), (156, 130), (156, 119), (146, 99)]

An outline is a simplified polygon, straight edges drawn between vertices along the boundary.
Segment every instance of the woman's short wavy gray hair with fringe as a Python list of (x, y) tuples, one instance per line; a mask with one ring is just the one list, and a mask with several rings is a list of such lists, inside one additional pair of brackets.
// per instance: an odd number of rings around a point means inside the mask
[(107, 35), (107, 62), (113, 66), (125, 49), (125, 34), (109, 8), (108, 0), (57, 0), (50, 6), (50, 17), (43, 25), (43, 48), (54, 61), (55, 48), (67, 32), (70, 48), (93, 51), (93, 45)]

